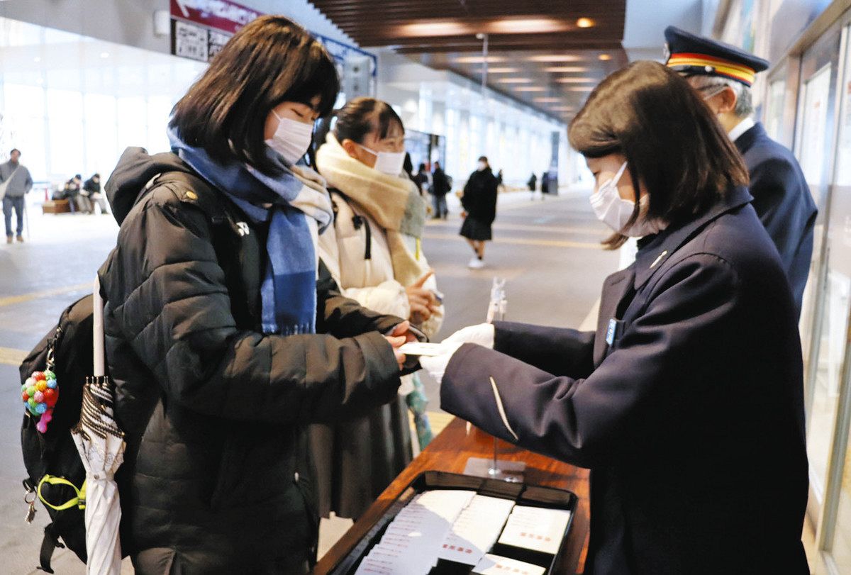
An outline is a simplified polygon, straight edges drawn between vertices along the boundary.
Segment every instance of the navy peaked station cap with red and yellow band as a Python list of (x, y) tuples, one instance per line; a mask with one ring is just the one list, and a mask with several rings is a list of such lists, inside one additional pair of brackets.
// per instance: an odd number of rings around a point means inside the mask
[(768, 68), (768, 60), (677, 26), (665, 28), (665, 52), (665, 63), (683, 76), (726, 77), (748, 87), (757, 72)]

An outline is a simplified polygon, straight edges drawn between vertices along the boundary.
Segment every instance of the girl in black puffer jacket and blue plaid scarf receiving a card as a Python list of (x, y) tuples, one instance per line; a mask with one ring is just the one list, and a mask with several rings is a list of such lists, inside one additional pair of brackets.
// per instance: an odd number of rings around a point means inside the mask
[(307, 572), (305, 425), (397, 395), (407, 322), (337, 292), (315, 248), (328, 193), (295, 165), (337, 89), (304, 29), (254, 20), (175, 106), (173, 151), (125, 151), (106, 185), (121, 231), (100, 282), (136, 572)]

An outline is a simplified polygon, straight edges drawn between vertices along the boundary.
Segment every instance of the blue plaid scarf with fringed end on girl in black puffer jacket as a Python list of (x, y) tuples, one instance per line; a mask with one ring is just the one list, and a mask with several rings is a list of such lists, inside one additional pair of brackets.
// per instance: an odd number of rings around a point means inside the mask
[[(172, 151), (203, 179), (225, 193), (254, 222), (269, 222), (262, 300), (263, 333), (316, 333), (317, 261), (310, 222), (319, 231), (333, 217), (328, 192), (314, 180), (302, 179), (269, 149), (282, 175), (277, 178), (243, 163), (221, 164), (201, 148), (182, 141), (169, 128)], [(304, 173), (303, 169), (300, 172)]]

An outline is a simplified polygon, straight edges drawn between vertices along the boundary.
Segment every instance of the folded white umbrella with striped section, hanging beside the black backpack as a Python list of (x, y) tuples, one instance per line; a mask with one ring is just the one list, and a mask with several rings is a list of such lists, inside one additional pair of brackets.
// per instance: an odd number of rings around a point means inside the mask
[(94, 280), (94, 376), (83, 387), (80, 422), (71, 430), (86, 468), (86, 563), (88, 573), (121, 572), (121, 504), (113, 479), (123, 462), (124, 432), (113, 417), (113, 386), (105, 373), (103, 299)]

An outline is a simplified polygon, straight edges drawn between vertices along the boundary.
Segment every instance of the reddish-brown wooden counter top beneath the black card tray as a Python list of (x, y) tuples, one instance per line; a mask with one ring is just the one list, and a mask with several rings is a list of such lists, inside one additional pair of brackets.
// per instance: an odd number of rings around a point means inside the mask
[[(467, 458), (493, 457), (493, 436), (482, 430), (471, 428), (466, 433), (466, 423), (458, 418), (452, 420), (441, 434), (431, 441), (429, 447), (420, 453), (408, 467), (381, 493), (340, 541), (328, 550), (322, 561), (317, 564), (314, 573), (324, 575), (346, 556), (349, 550), (384, 514), (405, 487), (420, 475), (422, 471), (438, 470), (463, 473)], [(585, 553), (588, 549), (588, 470), (563, 464), (555, 459), (546, 458), (537, 453), (528, 452), (510, 443), (500, 441), (500, 459), (526, 462), (525, 479), (527, 483), (568, 489), (579, 497), (573, 527), (568, 536), (568, 552), (557, 573), (582, 572), (585, 566)]]

